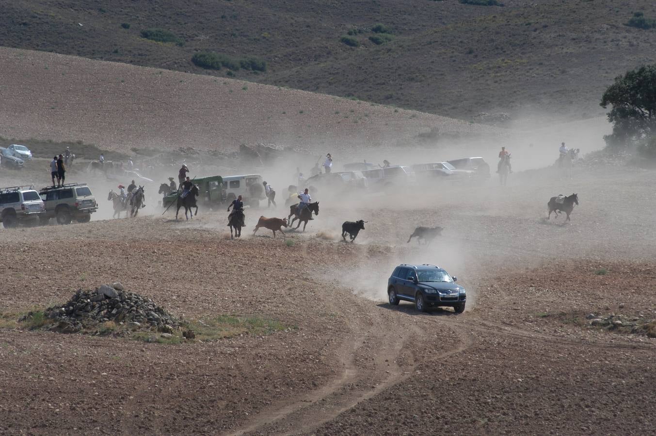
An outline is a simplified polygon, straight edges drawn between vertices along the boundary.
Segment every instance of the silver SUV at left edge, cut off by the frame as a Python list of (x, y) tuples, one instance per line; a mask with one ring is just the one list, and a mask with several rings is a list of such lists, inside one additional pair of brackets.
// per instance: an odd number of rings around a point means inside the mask
[(19, 222), (35, 224), (45, 214), (45, 205), (33, 186), (0, 188), (0, 221), (5, 228)]

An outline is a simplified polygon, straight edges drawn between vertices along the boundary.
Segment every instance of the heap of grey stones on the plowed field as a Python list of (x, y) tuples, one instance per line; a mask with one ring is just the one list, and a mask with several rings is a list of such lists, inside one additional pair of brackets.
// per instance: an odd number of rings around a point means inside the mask
[(59, 321), (54, 327), (62, 332), (79, 332), (99, 323), (115, 321), (130, 328), (150, 327), (173, 332), (180, 321), (156, 306), (153, 300), (127, 292), (121, 283), (102, 285), (95, 290), (79, 289), (63, 306), (49, 307), (45, 316)]

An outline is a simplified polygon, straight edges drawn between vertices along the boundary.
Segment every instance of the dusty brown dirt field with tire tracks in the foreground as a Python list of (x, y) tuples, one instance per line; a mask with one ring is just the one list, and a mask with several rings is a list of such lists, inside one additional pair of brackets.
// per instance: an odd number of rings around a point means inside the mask
[[(502, 189), (325, 196), (289, 247), (248, 210), (0, 230), (0, 311), (121, 281), (175, 315), (290, 328), (178, 346), (0, 330), (3, 433), (647, 434), (656, 340), (589, 328), (588, 313), (656, 317), (654, 173), (514, 174)], [(546, 201), (579, 193), (571, 225)], [(99, 195), (100, 197), (100, 195)], [(100, 199), (102, 201), (104, 199)], [(106, 207), (106, 203), (101, 205)], [(368, 220), (341, 243), (344, 220)], [(428, 247), (407, 244), (440, 225)], [(317, 237), (319, 235), (320, 237)], [(462, 315), (386, 303), (399, 262), (435, 263), (468, 290)], [(607, 269), (598, 275), (600, 268)]]

